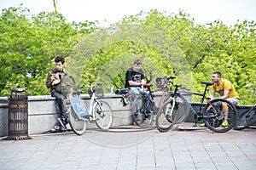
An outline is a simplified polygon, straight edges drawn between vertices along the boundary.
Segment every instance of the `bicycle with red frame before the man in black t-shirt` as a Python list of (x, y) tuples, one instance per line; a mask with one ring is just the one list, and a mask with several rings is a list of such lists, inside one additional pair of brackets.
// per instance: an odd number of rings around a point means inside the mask
[[(154, 115), (160, 109), (160, 106), (168, 101), (171, 98), (171, 91), (168, 87), (168, 80), (173, 79), (175, 77), (156, 77), (154, 79), (154, 84), (156, 85), (156, 89), (151, 90), (151, 84), (144, 84), (143, 87), (146, 88), (148, 94), (140, 94), (136, 99), (133, 99), (133, 103), (131, 105), (131, 115), (133, 122), (138, 127), (146, 128), (153, 122)], [(163, 94), (161, 95), (159, 105), (156, 106), (154, 102), (154, 93), (157, 91), (163, 90)], [(133, 96), (134, 98), (135, 96)], [(132, 97), (131, 97), (132, 98)]]

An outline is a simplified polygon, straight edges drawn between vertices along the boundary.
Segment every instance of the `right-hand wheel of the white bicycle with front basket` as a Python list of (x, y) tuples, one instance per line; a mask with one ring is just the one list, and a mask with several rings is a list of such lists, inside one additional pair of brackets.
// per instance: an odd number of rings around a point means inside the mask
[(94, 108), (96, 126), (106, 131), (111, 127), (113, 122), (113, 113), (107, 102), (99, 100)]

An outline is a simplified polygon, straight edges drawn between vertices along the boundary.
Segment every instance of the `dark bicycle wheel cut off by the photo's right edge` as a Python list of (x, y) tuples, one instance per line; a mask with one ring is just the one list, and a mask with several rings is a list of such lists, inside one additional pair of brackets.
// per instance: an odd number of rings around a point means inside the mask
[(236, 125), (234, 127), (235, 130), (242, 130), (256, 122), (256, 105), (250, 108), (247, 111), (244, 111), (241, 116), (238, 117), (236, 121)]

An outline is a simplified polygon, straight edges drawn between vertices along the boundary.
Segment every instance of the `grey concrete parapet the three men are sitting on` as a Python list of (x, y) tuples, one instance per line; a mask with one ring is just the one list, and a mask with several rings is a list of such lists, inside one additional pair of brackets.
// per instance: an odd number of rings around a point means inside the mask
[[(159, 104), (161, 93), (156, 93), (155, 104)], [(190, 94), (184, 94), (188, 101), (191, 101)], [(90, 97), (88, 94), (82, 94), (81, 98), (86, 105), (89, 105)], [(130, 125), (132, 123), (130, 105), (123, 106), (119, 95), (105, 94), (104, 99), (113, 110), (113, 126)], [(183, 105), (180, 105), (183, 106)], [(192, 103), (195, 111), (198, 109), (199, 103)], [(246, 111), (251, 106), (236, 106), (239, 113)], [(187, 108), (179, 107), (189, 111)], [(55, 98), (49, 95), (28, 96), (28, 133), (37, 134), (48, 132), (57, 123), (58, 110)], [(8, 135), (8, 98), (0, 97), (0, 137)], [(189, 113), (186, 122), (194, 122), (194, 116)], [(88, 128), (96, 127), (88, 123)]]

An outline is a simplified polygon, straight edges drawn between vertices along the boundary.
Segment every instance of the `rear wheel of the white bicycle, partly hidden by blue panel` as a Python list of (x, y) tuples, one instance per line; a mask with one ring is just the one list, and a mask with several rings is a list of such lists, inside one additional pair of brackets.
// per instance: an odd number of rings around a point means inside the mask
[(79, 117), (73, 109), (69, 111), (68, 114), (68, 121), (70, 124), (70, 127), (72, 128), (73, 132), (82, 135), (86, 131), (86, 119), (83, 117)]

